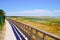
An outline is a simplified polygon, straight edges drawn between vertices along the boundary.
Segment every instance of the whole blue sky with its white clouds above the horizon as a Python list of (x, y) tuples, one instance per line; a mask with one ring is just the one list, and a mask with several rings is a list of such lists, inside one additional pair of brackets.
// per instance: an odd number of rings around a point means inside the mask
[(60, 0), (0, 0), (7, 16), (60, 16)]

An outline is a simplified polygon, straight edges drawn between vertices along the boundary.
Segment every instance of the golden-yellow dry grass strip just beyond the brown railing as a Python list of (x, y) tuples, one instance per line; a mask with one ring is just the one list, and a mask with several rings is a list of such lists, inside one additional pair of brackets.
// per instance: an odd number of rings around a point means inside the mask
[(20, 19), (18, 20), (19, 22), (23, 22), (23, 23), (26, 23), (26, 24), (29, 24), (33, 27), (36, 27), (36, 28), (39, 28), (41, 30), (44, 30), (46, 32), (49, 32), (49, 33), (52, 33), (52, 34), (55, 34), (55, 35), (58, 35), (60, 36), (60, 27), (56, 27), (56, 26), (47, 26), (47, 25), (43, 25), (41, 23), (38, 23), (38, 22), (31, 22), (31, 21), (28, 21), (28, 20), (24, 20), (24, 19)]

